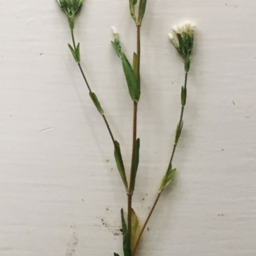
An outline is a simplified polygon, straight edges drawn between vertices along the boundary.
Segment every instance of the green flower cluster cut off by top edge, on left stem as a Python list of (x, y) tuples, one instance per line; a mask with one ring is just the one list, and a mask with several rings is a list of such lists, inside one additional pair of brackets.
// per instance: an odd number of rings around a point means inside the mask
[(61, 10), (66, 13), (70, 29), (74, 29), (76, 14), (81, 10), (84, 0), (57, 0)]

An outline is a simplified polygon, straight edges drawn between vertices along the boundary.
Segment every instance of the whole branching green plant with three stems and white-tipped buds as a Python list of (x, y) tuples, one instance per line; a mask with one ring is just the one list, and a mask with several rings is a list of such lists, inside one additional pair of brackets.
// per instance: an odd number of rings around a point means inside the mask
[[(157, 202), (162, 195), (164, 189), (166, 189), (169, 184), (172, 182), (175, 177), (176, 168), (173, 168), (173, 157), (175, 156), (175, 150), (177, 148), (180, 135), (182, 133), (182, 127), (184, 124), (184, 109), (186, 106), (187, 99), (187, 88), (188, 88), (188, 73), (191, 65), (191, 56), (193, 50), (193, 42), (194, 42), (194, 33), (195, 26), (191, 24), (191, 22), (186, 21), (179, 26), (173, 27), (173, 33), (169, 34), (170, 41), (172, 45), (175, 47), (180, 57), (184, 61), (184, 85), (181, 87), (181, 110), (180, 110), (180, 118), (177, 124), (175, 138), (173, 143), (173, 150), (170, 156), (170, 161), (168, 163), (168, 167), (166, 173), (163, 176), (163, 179), (160, 182), (159, 191), (156, 196), (156, 200), (151, 207), (150, 212), (148, 213), (148, 217), (145, 223), (140, 227), (138, 218), (136, 213), (132, 209), (132, 195), (134, 194), (134, 189), (136, 185), (136, 174), (138, 171), (139, 161), (140, 161), (140, 138), (137, 136), (137, 120), (138, 120), (138, 106), (140, 102), (141, 95), (141, 76), (140, 76), (140, 65), (141, 65), (141, 26), (143, 24), (143, 17), (145, 15), (147, 0), (127, 0), (129, 1), (129, 9), (131, 13), (131, 17), (134, 21), (136, 27), (136, 51), (133, 54), (132, 61), (129, 61), (129, 58), (122, 51), (122, 45), (120, 42), (120, 36), (118, 35), (115, 27), (112, 27), (112, 31), (114, 34), (114, 40), (111, 42), (113, 45), (113, 49), (116, 52), (118, 58), (122, 63), (122, 67), (124, 70), (124, 76), (127, 83), (127, 88), (129, 91), (129, 95), (131, 96), (131, 100), (133, 102), (133, 120), (132, 120), (132, 159), (131, 159), (131, 170), (129, 173), (129, 178), (127, 177), (127, 170), (125, 170), (124, 162), (122, 159), (122, 152), (120, 148), (120, 144), (115, 139), (113, 132), (111, 131), (111, 127), (109, 125), (108, 119), (104, 114), (104, 110), (100, 105), (100, 101), (97, 98), (97, 95), (93, 92), (90, 84), (88, 83), (88, 79), (84, 73), (83, 67), (81, 65), (81, 55), (80, 55), (80, 44), (76, 43), (74, 28), (76, 24), (76, 15), (81, 10), (83, 6), (83, 0), (58, 0), (58, 4), (60, 5), (63, 12), (68, 17), (68, 24), (70, 28), (70, 35), (72, 44), (68, 44), (70, 52), (76, 61), (79, 70), (81, 71), (81, 75), (83, 76), (84, 82), (88, 88), (88, 92), (90, 98), (92, 99), (93, 104), (99, 111), (99, 114), (102, 116), (104, 124), (106, 124), (106, 128), (108, 129), (111, 142), (113, 143), (114, 148), (114, 156), (116, 161), (116, 167), (118, 172), (120, 173), (120, 177), (122, 182), (124, 183), (124, 188), (127, 194), (127, 218), (125, 220), (124, 210), (121, 210), (121, 220), (122, 220), (122, 231), (123, 231), (123, 248), (125, 256), (134, 256), (136, 254), (136, 250), (140, 243), (141, 236), (147, 227), (147, 223), (152, 216), (152, 213), (157, 205)], [(114, 253), (115, 256), (118, 256), (117, 253)]]

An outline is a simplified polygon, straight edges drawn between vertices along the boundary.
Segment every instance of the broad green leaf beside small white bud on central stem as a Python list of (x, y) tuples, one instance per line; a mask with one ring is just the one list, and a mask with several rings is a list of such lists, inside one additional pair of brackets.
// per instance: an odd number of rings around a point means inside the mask
[(138, 102), (140, 100), (140, 88), (138, 86), (134, 70), (124, 53), (122, 53), (122, 64), (131, 98), (135, 102)]

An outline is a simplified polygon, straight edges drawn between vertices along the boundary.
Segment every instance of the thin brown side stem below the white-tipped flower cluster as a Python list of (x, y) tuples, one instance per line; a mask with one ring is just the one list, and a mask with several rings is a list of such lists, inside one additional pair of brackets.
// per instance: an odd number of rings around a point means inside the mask
[[(187, 83), (188, 83), (188, 72), (186, 72), (186, 74), (185, 74), (184, 88), (187, 88)], [(184, 106), (182, 106), (181, 111), (180, 111), (179, 124), (180, 124), (180, 123), (182, 122), (182, 120), (183, 120), (184, 109), (185, 109)], [(171, 159), (170, 159), (168, 168), (170, 168), (170, 167), (172, 166), (172, 161), (173, 161), (173, 157), (174, 157), (176, 148), (177, 148), (177, 144), (174, 144), (174, 145), (173, 145), (173, 150), (172, 150), (172, 156), (171, 156)], [(133, 254), (132, 254), (133, 256), (134, 256), (135, 253), (136, 253), (136, 250), (137, 250), (138, 245), (139, 245), (139, 243), (140, 243), (141, 236), (142, 236), (142, 234), (143, 234), (145, 228), (147, 227), (147, 223), (148, 223), (148, 221), (150, 220), (150, 217), (152, 216), (152, 213), (154, 212), (154, 209), (155, 209), (155, 207), (156, 207), (156, 205), (157, 205), (157, 202), (158, 202), (160, 196), (161, 196), (161, 192), (158, 193), (158, 195), (157, 195), (157, 197), (156, 197), (156, 200), (155, 200), (155, 202), (154, 202), (154, 204), (153, 204), (153, 207), (152, 207), (151, 211), (149, 212), (148, 217), (147, 217), (147, 219), (146, 219), (146, 221), (145, 221), (143, 227), (141, 228), (140, 235), (139, 235), (138, 240), (136, 241), (136, 244), (135, 244), (135, 247), (134, 247), (134, 252), (133, 252)]]

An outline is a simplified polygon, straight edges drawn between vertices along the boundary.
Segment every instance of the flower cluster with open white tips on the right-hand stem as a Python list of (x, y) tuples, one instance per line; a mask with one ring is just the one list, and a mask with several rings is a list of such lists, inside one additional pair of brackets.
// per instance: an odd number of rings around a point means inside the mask
[(172, 29), (173, 33), (169, 34), (169, 38), (185, 61), (185, 70), (188, 72), (194, 43), (195, 26), (189, 20), (186, 20), (179, 26), (173, 26)]

